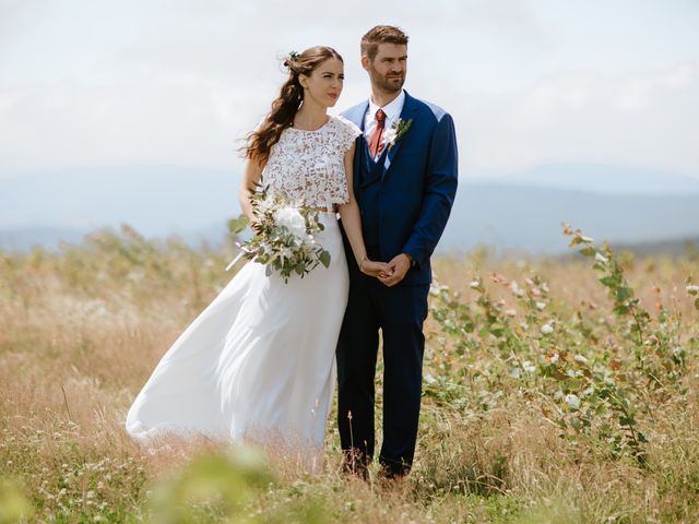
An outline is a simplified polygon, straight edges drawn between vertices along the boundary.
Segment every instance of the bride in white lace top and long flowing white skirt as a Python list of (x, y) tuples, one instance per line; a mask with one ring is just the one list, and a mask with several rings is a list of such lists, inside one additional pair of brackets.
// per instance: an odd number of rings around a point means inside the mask
[(348, 275), (339, 211), (362, 271), (368, 260), (353, 194), (352, 160), (359, 129), (327, 110), (343, 87), (342, 57), (330, 47), (291, 53), (288, 79), (245, 147), (244, 213), (254, 219), (256, 183), (319, 210), (318, 243), (331, 253), (287, 283), (249, 262), (163, 356), (133, 405), (126, 427), (154, 436), (210, 438), (320, 449), (334, 390), (335, 345), (347, 302)]

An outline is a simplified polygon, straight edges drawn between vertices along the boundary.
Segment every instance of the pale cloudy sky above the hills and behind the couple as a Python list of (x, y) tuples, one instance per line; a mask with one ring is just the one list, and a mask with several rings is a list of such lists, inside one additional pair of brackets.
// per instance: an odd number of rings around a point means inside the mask
[(462, 174), (594, 162), (699, 177), (696, 0), (0, 0), (0, 177), (237, 172), (280, 57), (335, 47), (343, 109), (367, 96), (358, 40), (377, 23), (411, 36), (406, 88), (454, 116)]

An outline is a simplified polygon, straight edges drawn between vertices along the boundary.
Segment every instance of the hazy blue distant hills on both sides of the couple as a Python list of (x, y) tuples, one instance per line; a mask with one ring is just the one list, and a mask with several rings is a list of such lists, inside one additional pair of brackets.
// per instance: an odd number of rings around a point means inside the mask
[[(566, 167), (567, 166), (567, 167)], [(571, 167), (572, 166), (572, 167)], [(699, 183), (677, 174), (618, 168), (631, 184), (616, 194), (613, 167), (542, 166), (538, 181), (552, 177), (570, 188), (537, 186), (532, 174), (511, 180), (528, 184), (461, 180), (452, 216), (439, 249), (470, 249), (478, 243), (500, 250), (560, 252), (567, 240), (560, 223), (570, 222), (595, 239), (615, 243), (680, 241), (699, 237)], [(617, 168), (614, 168), (617, 169)], [(632, 184), (633, 172), (638, 183)], [(559, 174), (559, 175), (557, 175)], [(520, 174), (521, 175), (521, 174)], [(548, 178), (546, 178), (548, 177)], [(240, 176), (216, 169), (168, 166), (80, 168), (0, 178), (0, 248), (56, 247), (80, 241), (105, 225), (127, 223), (147, 237), (176, 234), (189, 242), (223, 241), (225, 222), (239, 213)], [(581, 190), (578, 186), (591, 186)], [(550, 181), (553, 183), (553, 181)], [(661, 190), (663, 189), (664, 190)], [(606, 189), (606, 191), (605, 191)]]

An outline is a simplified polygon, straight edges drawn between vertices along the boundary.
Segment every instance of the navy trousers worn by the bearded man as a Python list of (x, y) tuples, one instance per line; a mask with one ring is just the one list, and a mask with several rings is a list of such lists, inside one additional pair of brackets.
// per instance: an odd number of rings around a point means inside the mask
[[(369, 258), (378, 260), (372, 252), (376, 248), (367, 250)], [(379, 462), (388, 475), (403, 475), (412, 466), (417, 439), (429, 285), (387, 287), (359, 272), (353, 258), (347, 259), (350, 298), (336, 352), (337, 426), (346, 466), (365, 469), (374, 460), (380, 330), (383, 442)]]

